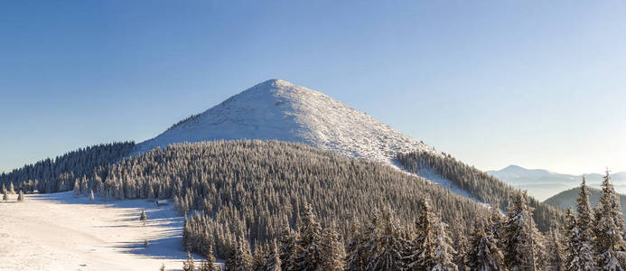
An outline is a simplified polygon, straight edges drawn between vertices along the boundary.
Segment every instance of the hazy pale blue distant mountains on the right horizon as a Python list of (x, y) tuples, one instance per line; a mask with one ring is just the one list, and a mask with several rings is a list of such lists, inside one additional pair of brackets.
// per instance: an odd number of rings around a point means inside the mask
[[(547, 198), (559, 192), (575, 188), (583, 178), (583, 175), (572, 175), (564, 173), (554, 173), (544, 169), (526, 169), (519, 165), (509, 165), (499, 171), (488, 171), (487, 173), (509, 183), (514, 187), (527, 190), (528, 194), (545, 201)], [(603, 174), (584, 174), (587, 184), (591, 187), (599, 188), (603, 181)], [(626, 172), (611, 174), (615, 191), (626, 193)]]

